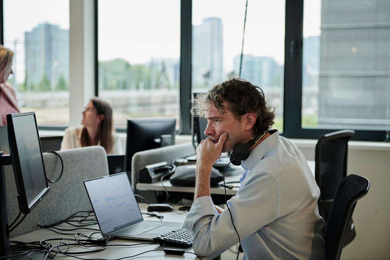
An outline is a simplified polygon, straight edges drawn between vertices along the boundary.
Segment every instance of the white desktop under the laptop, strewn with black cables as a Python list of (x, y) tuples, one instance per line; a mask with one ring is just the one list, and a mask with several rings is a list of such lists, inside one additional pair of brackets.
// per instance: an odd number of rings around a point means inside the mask
[[(147, 205), (146, 204), (139, 203), (139, 205), (140, 205), (141, 212), (147, 212), (147, 210), (146, 210)], [(179, 206), (175, 206), (174, 210), (176, 212), (179, 212), (179, 213), (184, 212), (184, 211), (178, 210), (178, 208), (179, 208)], [(185, 212), (184, 212), (184, 214), (177, 214), (175, 212), (161, 212), (161, 214), (164, 216), (163, 221), (168, 221), (168, 222), (183, 223), (184, 219), (186, 217)], [(145, 214), (142, 214), (142, 216), (144, 217), (145, 220), (158, 221), (158, 219), (156, 217), (153, 217), (153, 216), (149, 216), (149, 215), (145, 215)], [(66, 217), (67, 216), (64, 216), (64, 219)], [(64, 224), (64, 223), (61, 224), (59, 227), (71, 228), (70, 225)], [(97, 224), (92, 225), (92, 226), (87, 226), (87, 228), (99, 229)], [(96, 232), (96, 231), (91, 231), (91, 230), (76, 230), (76, 231), (70, 231), (70, 232), (61, 231), (61, 230), (58, 230), (58, 231), (64, 232), (64, 233), (77, 233), (78, 232), (78, 233), (83, 233), (85, 235), (90, 235), (91, 233)], [(94, 234), (94, 237), (98, 237), (98, 236), (99, 236), (99, 234)], [(74, 235), (60, 235), (60, 234), (54, 233), (46, 228), (42, 228), (40, 230), (36, 230), (34, 232), (27, 233), (25, 235), (21, 235), (19, 237), (14, 237), (11, 240), (31, 242), (31, 241), (37, 241), (37, 240), (43, 240), (43, 239), (54, 239), (54, 238), (56, 238), (58, 240), (50, 241), (51, 244), (57, 244), (58, 242), (61, 242), (63, 238), (70, 238), (70, 239), (73, 238), (74, 239)], [(78, 237), (78, 239), (83, 239), (83, 237)], [(74, 243), (74, 241), (64, 241), (64, 242), (65, 243)], [(115, 244), (131, 245), (131, 244), (139, 244), (139, 243), (151, 243), (151, 242), (145, 241), (145, 240), (114, 239), (110, 242), (109, 245), (115, 245)], [(97, 248), (99, 248), (99, 247), (84, 248), (82, 246), (71, 246), (71, 248), (69, 249), (69, 252), (89, 251), (89, 250), (97, 249)], [(117, 259), (117, 258), (122, 258), (122, 257), (126, 257), (126, 256), (128, 257), (128, 256), (132, 256), (132, 255), (137, 255), (139, 253), (149, 251), (149, 250), (164, 249), (164, 248), (176, 248), (176, 247), (159, 246), (159, 244), (140, 245), (140, 246), (108, 246), (105, 250), (103, 250), (101, 252), (90, 253), (90, 254), (85, 254), (85, 255), (76, 255), (76, 256), (80, 257), (80, 258), (84, 258), (84, 259), (91, 259), (91, 258)], [(64, 247), (62, 249), (65, 250), (66, 247)], [(177, 248), (177, 249), (184, 249), (186, 252), (188, 251), (188, 252), (193, 253), (192, 247)], [(12, 255), (14, 255), (14, 254), (12, 254)], [(43, 253), (40, 253), (39, 255), (43, 255)], [(37, 258), (37, 256), (38, 256), (38, 254), (35, 254), (35, 253), (33, 253), (31, 255), (32, 259), (39, 259), (39, 258)], [(20, 256), (18, 258), (12, 258), (12, 259), (27, 259), (27, 255)], [(58, 254), (57, 256), (55, 256), (55, 259), (76, 259), (76, 258), (73, 258), (71, 256), (63, 256), (63, 255)], [(175, 256), (175, 255), (165, 255), (163, 251), (153, 251), (153, 252), (149, 252), (149, 253), (145, 253), (143, 255), (137, 256), (135, 258), (126, 258), (126, 259), (154, 259), (154, 260), (164, 259), (164, 260), (167, 260), (167, 259), (199, 259), (199, 258), (196, 258), (195, 255), (189, 254), (189, 253), (185, 253), (184, 256)], [(202, 259), (207, 259), (207, 258), (202, 257)]]

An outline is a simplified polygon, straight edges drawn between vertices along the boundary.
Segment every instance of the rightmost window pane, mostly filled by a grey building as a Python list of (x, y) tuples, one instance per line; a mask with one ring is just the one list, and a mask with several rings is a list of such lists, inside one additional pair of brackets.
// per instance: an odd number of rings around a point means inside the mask
[(374, 0), (304, 2), (302, 128), (389, 131), (389, 13)]

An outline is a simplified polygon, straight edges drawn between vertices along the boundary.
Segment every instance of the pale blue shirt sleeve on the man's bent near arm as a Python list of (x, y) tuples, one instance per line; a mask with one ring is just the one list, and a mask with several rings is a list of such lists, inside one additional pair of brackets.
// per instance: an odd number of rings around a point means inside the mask
[[(269, 173), (255, 173), (236, 196), (227, 201), (230, 212), (218, 214), (210, 196), (197, 198), (184, 221), (183, 227), (194, 236), (193, 250), (199, 256), (215, 258), (278, 217), (278, 185)], [(255, 250), (255, 249), (254, 249)]]

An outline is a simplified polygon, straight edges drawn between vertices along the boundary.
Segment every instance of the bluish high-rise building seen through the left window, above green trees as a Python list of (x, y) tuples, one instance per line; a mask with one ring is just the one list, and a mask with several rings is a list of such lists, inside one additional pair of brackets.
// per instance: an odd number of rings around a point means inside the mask
[(25, 32), (27, 91), (67, 89), (69, 30), (40, 23)]

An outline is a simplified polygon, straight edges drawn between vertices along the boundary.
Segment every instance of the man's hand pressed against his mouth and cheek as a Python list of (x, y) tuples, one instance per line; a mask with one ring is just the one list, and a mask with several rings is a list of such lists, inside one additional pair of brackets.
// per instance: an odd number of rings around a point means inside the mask
[(196, 149), (197, 164), (211, 167), (219, 159), (223, 144), (228, 136), (227, 132), (223, 132), (216, 143), (213, 142), (211, 137), (202, 140)]

